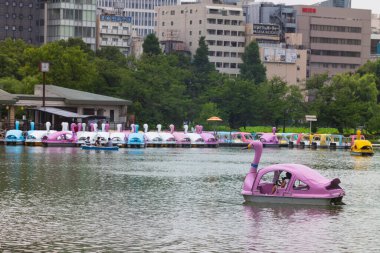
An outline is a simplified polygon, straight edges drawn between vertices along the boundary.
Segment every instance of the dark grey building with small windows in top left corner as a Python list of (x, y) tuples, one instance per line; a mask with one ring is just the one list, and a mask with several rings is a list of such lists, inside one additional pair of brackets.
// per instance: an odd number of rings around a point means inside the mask
[(22, 39), (39, 45), (44, 41), (44, 0), (1, 0), (0, 40)]

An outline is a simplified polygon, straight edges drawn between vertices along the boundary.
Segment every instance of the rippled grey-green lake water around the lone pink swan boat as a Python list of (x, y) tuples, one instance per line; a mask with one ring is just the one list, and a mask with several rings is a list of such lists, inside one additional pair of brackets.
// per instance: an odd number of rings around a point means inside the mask
[(380, 150), (264, 149), (339, 177), (341, 208), (247, 206), (252, 150), (0, 147), (0, 251), (380, 252)]

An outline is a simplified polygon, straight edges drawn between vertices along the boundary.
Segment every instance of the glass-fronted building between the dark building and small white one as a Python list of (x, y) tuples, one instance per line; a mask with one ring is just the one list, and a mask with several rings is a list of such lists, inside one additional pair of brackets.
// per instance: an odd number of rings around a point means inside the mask
[(96, 0), (50, 0), (46, 22), (47, 42), (82, 38), (95, 50)]

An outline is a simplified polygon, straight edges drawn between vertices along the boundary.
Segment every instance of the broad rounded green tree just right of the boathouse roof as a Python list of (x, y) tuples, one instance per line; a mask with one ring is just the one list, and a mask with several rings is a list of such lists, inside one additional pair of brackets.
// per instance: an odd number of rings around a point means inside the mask
[[(176, 55), (142, 57), (124, 72), (123, 97), (131, 99), (137, 121), (149, 125), (179, 125), (187, 118), (189, 99), (184, 80), (190, 72), (178, 67)], [(154, 125), (155, 126), (155, 125)]]

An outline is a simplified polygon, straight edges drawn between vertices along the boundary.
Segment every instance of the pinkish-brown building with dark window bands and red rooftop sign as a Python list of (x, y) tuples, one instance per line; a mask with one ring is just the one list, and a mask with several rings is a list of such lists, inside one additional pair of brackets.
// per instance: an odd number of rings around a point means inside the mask
[(309, 49), (308, 75), (355, 71), (370, 58), (371, 11), (294, 6), (297, 32)]

